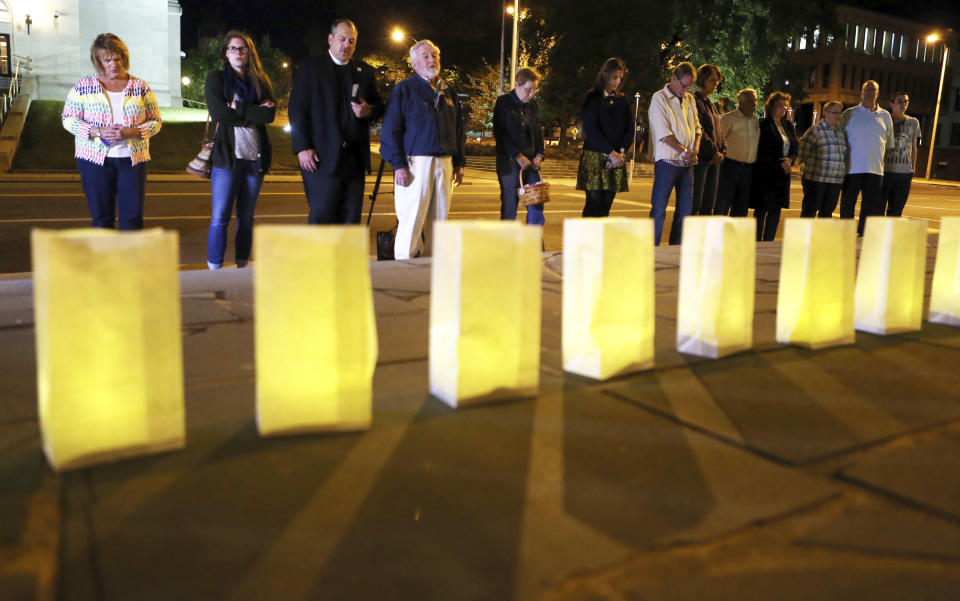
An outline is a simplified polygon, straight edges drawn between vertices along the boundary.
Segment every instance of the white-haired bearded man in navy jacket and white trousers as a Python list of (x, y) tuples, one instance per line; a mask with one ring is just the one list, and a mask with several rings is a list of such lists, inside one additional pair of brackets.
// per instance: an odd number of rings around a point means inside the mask
[(433, 220), (447, 218), (466, 165), (463, 111), (440, 77), (440, 49), (421, 40), (410, 48), (410, 64), (415, 73), (391, 92), (380, 134), (380, 156), (394, 171), (396, 259), (430, 254)]

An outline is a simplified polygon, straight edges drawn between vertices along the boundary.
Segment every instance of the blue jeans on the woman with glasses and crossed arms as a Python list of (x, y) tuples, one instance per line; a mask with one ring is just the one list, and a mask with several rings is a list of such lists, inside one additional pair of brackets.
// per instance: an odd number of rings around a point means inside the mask
[(237, 263), (245, 264), (250, 259), (253, 245), (253, 209), (263, 174), (257, 161), (237, 159), (233, 169), (214, 167), (210, 173), (210, 192), (213, 208), (210, 215), (210, 230), (207, 232), (207, 264), (211, 269), (223, 266), (227, 250), (227, 226), (233, 205), (237, 205), (237, 236), (234, 252)]

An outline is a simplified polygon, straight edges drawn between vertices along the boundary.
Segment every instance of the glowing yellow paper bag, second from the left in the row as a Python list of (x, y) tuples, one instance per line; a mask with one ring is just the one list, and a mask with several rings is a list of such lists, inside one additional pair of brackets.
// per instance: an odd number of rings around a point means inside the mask
[(260, 434), (370, 427), (377, 327), (366, 227), (258, 226)]

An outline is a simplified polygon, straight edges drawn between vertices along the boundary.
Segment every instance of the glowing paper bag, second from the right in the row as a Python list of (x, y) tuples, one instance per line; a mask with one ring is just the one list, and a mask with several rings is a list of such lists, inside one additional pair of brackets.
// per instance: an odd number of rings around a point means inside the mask
[(927, 261), (927, 223), (906, 217), (867, 217), (854, 327), (874, 334), (919, 330)]

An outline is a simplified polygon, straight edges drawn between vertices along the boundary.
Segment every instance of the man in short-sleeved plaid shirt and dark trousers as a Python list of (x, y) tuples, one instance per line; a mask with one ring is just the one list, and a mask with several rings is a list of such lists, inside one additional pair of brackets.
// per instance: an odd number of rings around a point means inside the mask
[(823, 107), (823, 119), (800, 138), (801, 217), (830, 217), (837, 208), (847, 174), (847, 134), (840, 127), (842, 114), (841, 103), (828, 102)]

